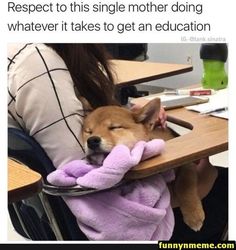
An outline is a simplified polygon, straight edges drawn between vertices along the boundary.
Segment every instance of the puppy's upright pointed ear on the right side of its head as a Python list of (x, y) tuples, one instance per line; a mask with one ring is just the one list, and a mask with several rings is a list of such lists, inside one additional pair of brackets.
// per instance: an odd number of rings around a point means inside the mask
[(134, 118), (136, 122), (143, 123), (147, 125), (150, 130), (152, 130), (158, 119), (160, 107), (161, 100), (159, 98), (151, 100), (141, 109), (134, 111)]

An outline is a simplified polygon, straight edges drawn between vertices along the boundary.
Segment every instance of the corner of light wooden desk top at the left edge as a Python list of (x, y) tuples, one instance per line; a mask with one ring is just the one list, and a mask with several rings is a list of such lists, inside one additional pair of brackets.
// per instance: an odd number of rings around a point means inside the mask
[(8, 159), (8, 203), (26, 199), (42, 189), (42, 177), (25, 165)]

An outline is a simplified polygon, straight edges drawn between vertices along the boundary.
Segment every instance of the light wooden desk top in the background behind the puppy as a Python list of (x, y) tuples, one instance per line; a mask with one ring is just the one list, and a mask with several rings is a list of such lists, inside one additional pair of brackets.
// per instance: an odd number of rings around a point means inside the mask
[(193, 70), (192, 65), (111, 60), (117, 86), (129, 86)]

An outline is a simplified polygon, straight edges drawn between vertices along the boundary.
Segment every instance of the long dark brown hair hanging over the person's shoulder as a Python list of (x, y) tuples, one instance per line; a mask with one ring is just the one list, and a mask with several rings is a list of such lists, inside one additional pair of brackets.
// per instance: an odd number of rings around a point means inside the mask
[(93, 107), (116, 104), (109, 54), (102, 44), (49, 43), (64, 60), (79, 94)]

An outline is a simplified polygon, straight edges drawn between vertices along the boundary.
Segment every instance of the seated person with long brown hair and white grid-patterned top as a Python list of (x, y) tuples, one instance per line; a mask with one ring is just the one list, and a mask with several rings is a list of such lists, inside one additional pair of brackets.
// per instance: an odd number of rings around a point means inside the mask
[[(116, 104), (106, 51), (97, 44), (11, 44), (8, 50), (9, 126), (33, 136), (55, 167), (84, 157), (83, 107)], [(162, 110), (157, 122), (165, 126)], [(196, 164), (206, 212), (201, 231), (188, 229), (174, 208), (173, 240), (217, 240), (227, 222), (227, 171), (207, 159)], [(217, 220), (216, 220), (217, 219)], [(142, 239), (140, 239), (142, 240)]]

